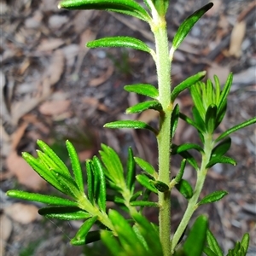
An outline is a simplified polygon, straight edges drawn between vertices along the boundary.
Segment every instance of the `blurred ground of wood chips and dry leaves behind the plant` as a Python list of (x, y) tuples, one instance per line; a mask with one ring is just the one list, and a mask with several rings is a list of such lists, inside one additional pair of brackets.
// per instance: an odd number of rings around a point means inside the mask
[[(228, 111), (218, 132), (255, 116), (256, 2), (213, 0), (214, 7), (195, 25), (174, 55), (172, 84), (207, 70), (224, 84), (234, 73)], [(155, 122), (157, 114), (125, 115), (125, 108), (144, 98), (123, 90), (126, 84), (157, 85), (154, 61), (132, 49), (87, 49), (84, 44), (106, 36), (131, 36), (154, 47), (148, 25), (125, 15), (102, 11), (57, 9), (55, 0), (0, 1), (1, 24), (1, 239), (0, 255), (99, 255), (93, 244), (71, 247), (70, 237), (80, 222), (40, 218), (39, 204), (7, 198), (8, 189), (26, 189), (55, 195), (26, 162), (22, 151), (36, 155), (37, 139), (49, 143), (67, 161), (65, 140), (74, 143), (82, 163), (97, 154), (101, 143), (125, 159), (131, 145), (135, 154), (157, 166), (154, 137), (147, 131), (103, 129), (108, 121), (139, 119)], [(205, 0), (172, 0), (167, 14), (170, 42), (181, 22)], [(192, 101), (184, 92), (178, 103), (189, 115)], [(224, 189), (224, 200), (198, 211), (207, 212), (211, 229), (224, 251), (251, 235), (256, 246), (255, 125), (232, 135), (229, 155), (237, 166), (217, 165), (209, 171), (204, 195)], [(196, 142), (195, 131), (180, 121), (175, 143)], [(180, 159), (173, 159), (176, 173)], [(185, 178), (195, 182), (188, 166)], [(186, 201), (173, 190), (173, 230)], [(157, 213), (148, 210), (157, 221)], [(102, 255), (102, 253), (101, 253)], [(104, 254), (107, 255), (107, 254)]]

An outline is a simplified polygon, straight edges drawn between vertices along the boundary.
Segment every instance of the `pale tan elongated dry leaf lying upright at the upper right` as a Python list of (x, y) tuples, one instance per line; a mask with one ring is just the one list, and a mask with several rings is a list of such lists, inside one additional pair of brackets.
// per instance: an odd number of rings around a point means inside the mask
[(241, 43), (245, 36), (246, 26), (247, 25), (244, 20), (237, 22), (236, 25), (234, 26), (230, 37), (230, 56), (235, 56), (236, 58), (241, 57)]

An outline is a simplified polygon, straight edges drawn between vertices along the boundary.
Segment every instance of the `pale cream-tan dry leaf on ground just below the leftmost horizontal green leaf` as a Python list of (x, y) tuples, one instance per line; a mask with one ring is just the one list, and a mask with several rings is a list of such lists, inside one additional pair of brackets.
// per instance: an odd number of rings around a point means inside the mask
[(4, 213), (20, 224), (30, 224), (41, 216), (38, 215), (38, 207), (15, 203), (4, 208)]

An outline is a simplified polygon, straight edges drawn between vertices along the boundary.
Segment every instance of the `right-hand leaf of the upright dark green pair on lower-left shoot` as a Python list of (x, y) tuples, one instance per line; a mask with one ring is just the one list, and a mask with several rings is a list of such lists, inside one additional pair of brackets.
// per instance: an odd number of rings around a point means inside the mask
[(106, 181), (105, 181), (102, 164), (96, 156), (93, 157), (93, 163), (96, 168), (96, 172), (98, 173), (99, 185), (100, 185), (97, 203), (98, 203), (100, 210), (102, 212), (106, 212)]

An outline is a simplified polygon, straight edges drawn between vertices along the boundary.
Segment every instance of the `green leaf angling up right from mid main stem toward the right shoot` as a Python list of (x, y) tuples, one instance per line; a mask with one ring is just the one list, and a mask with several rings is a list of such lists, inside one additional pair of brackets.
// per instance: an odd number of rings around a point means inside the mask
[(172, 90), (171, 102), (174, 102), (177, 96), (183, 90), (189, 88), (191, 85), (203, 79), (206, 76), (206, 73), (206, 71), (201, 71), (200, 73), (197, 73), (194, 76), (191, 76), (188, 79), (183, 80), (183, 82), (175, 86), (174, 89)]

